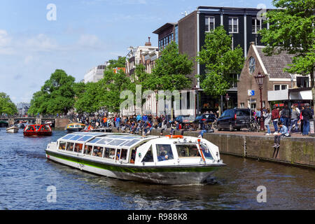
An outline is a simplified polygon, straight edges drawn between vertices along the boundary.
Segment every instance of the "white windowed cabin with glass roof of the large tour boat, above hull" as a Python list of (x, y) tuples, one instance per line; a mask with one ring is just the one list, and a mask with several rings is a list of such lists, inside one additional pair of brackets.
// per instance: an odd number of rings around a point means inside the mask
[(132, 134), (73, 132), (57, 140), (57, 151), (125, 165), (189, 165), (220, 162), (218, 147), (193, 137), (140, 137)]

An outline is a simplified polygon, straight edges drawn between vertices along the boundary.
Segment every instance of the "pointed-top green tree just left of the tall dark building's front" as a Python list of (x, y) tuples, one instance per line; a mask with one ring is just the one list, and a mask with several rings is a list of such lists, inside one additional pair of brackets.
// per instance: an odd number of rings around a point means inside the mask
[(191, 87), (188, 75), (192, 71), (193, 61), (186, 54), (179, 54), (177, 44), (172, 41), (162, 50), (161, 57), (156, 60), (144, 85), (151, 90), (184, 90)]

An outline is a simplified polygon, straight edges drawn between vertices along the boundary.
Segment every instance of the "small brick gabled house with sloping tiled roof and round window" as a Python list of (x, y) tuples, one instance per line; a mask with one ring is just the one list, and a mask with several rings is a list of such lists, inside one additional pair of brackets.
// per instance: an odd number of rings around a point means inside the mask
[[(309, 102), (309, 96), (298, 97), (296, 92), (305, 90), (310, 86), (309, 76), (290, 74), (283, 71), (287, 64), (292, 63), (293, 55), (281, 52), (279, 55), (266, 56), (262, 49), (264, 46), (251, 43), (248, 54), (241, 71), (238, 83), (237, 106), (240, 108), (260, 109), (260, 90), (255, 81), (258, 73), (265, 75), (262, 86), (262, 107), (266, 109), (275, 102), (290, 102), (300, 104)], [(255, 95), (248, 96), (248, 90), (254, 90)], [(307, 92), (307, 94), (309, 94)], [(296, 95), (296, 96), (295, 96)]]

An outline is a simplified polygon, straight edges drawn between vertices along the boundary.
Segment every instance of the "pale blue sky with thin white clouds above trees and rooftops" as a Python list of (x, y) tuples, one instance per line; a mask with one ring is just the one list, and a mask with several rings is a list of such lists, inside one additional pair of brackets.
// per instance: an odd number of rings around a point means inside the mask
[(274, 8), (272, 0), (1, 0), (0, 92), (30, 102), (55, 69), (79, 82), (92, 67), (144, 45), (197, 6)]

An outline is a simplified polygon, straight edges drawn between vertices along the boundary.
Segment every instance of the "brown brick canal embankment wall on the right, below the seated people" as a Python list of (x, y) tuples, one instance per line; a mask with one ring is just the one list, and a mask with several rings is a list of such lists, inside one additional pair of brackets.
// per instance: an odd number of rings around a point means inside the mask
[[(117, 129), (113, 129), (117, 132)], [(163, 135), (170, 133), (165, 130)], [(200, 132), (175, 131), (174, 134), (198, 137)], [(160, 130), (152, 130), (152, 135), (160, 135)], [(219, 147), (220, 153), (237, 155), (245, 158), (267, 160), (286, 165), (315, 168), (314, 151), (315, 137), (302, 137), (301, 134), (291, 134), (291, 137), (281, 137), (278, 150), (272, 148), (274, 135), (252, 132), (218, 132), (205, 133), (204, 139)]]

